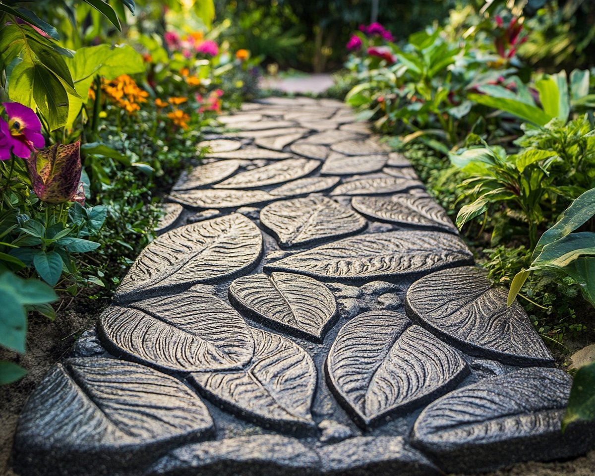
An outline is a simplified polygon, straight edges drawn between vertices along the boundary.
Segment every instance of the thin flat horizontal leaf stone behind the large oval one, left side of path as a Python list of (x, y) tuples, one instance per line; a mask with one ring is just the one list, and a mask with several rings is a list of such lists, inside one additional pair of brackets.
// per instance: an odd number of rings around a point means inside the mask
[(262, 190), (178, 190), (170, 199), (190, 208), (233, 208), (270, 202), (273, 195)]

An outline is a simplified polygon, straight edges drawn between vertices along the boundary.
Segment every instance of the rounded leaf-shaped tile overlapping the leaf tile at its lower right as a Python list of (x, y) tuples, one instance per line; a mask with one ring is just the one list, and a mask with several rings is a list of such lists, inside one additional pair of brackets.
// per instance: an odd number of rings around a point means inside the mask
[(177, 372), (238, 369), (252, 359), (248, 326), (206, 286), (133, 307), (110, 307), (99, 320), (99, 333), (114, 355)]

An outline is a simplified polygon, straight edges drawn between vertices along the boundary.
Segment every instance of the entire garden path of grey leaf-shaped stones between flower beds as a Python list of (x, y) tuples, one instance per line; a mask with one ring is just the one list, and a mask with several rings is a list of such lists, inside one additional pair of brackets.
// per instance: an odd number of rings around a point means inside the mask
[(341, 103), (223, 117), (97, 328), (35, 390), (23, 475), (434, 475), (593, 447), (570, 377), (403, 156)]

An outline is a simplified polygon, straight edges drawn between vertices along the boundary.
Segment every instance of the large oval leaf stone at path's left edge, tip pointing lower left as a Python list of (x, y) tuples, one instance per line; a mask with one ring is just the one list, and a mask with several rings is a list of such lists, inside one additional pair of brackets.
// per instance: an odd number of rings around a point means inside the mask
[(261, 253), (261, 231), (240, 214), (179, 227), (142, 250), (115, 298), (130, 302), (229, 277), (255, 265)]

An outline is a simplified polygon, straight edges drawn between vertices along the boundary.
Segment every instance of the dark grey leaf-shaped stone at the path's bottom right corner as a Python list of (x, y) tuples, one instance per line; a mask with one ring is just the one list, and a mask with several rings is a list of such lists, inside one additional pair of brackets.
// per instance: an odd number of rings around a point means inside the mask
[(560, 431), (571, 384), (562, 370), (536, 367), (484, 378), (428, 405), (413, 442), (446, 472), (580, 455), (595, 443), (595, 428)]

